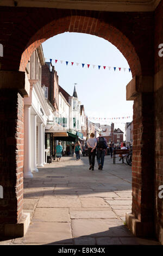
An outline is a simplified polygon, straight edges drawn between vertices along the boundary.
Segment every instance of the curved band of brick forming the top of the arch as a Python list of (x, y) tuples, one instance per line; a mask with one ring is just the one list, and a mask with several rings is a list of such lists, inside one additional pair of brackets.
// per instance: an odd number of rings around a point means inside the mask
[(53, 20), (39, 29), (39, 31), (37, 31), (36, 34), (34, 34), (29, 40), (26, 50), (22, 53), (19, 70), (25, 70), (32, 52), (35, 50), (35, 48), (42, 44), (42, 42), (54, 35), (64, 32), (86, 33), (108, 40), (115, 45), (127, 59), (133, 77), (135, 75), (141, 75), (140, 60), (129, 39), (112, 25), (109, 25), (108, 23), (100, 21), (94, 17), (82, 15), (64, 17), (58, 19), (57, 21)]

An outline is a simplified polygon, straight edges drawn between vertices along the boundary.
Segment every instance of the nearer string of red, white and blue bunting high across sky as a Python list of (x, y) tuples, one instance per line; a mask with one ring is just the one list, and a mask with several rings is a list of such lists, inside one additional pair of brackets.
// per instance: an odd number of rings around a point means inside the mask
[[(50, 62), (52, 63), (52, 59), (50, 59)], [(55, 64), (58, 64), (58, 63), (59, 63), (58, 59), (55, 59)], [(128, 72), (131, 71), (130, 68), (122, 68), (122, 67), (120, 67), (120, 66), (118, 66), (118, 67), (117, 67), (117, 66), (106, 66), (106, 65), (103, 66), (103, 65), (79, 63), (79, 62), (68, 62), (67, 60), (66, 60), (66, 61), (60, 60), (60, 63), (61, 63), (61, 64), (66, 63), (66, 66), (68, 66), (68, 63), (70, 63), (71, 66), (73, 66), (74, 63), (76, 63), (77, 66), (79, 66), (79, 64), (82, 64), (82, 68), (84, 68), (84, 66), (87, 66), (87, 69), (89, 69), (90, 66), (92, 66), (92, 68), (95, 69), (95, 67), (97, 66), (97, 67), (98, 67), (98, 70), (100, 70), (101, 67), (103, 67), (104, 70), (114, 70), (114, 71), (119, 70), (118, 72), (120, 72), (120, 71), (122, 71), (122, 70), (123, 70), (124, 72), (125, 72), (126, 70), (128, 70)]]

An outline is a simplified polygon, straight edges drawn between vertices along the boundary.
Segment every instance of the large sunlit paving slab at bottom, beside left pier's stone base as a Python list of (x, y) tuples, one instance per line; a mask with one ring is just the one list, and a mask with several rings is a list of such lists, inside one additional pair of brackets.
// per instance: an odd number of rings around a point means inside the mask
[(72, 243), (70, 223), (48, 223), (34, 222), (30, 224), (27, 234), (24, 236), (23, 243)]

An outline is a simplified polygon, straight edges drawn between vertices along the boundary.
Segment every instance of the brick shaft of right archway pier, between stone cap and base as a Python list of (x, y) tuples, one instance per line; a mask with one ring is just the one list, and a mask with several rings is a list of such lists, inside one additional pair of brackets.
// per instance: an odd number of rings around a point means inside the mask
[(153, 100), (153, 93), (140, 93), (133, 106), (132, 213), (147, 223), (154, 218)]

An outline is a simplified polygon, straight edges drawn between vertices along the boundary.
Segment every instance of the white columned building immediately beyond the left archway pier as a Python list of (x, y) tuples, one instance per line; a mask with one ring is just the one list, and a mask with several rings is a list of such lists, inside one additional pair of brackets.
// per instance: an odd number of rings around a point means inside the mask
[(44, 65), (42, 46), (30, 57), (26, 67), (29, 96), (24, 97), (24, 178), (45, 164), (45, 126), (49, 115), (45, 93), (41, 87), (41, 65)]

